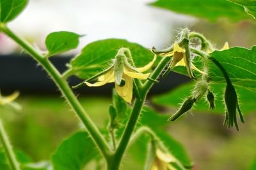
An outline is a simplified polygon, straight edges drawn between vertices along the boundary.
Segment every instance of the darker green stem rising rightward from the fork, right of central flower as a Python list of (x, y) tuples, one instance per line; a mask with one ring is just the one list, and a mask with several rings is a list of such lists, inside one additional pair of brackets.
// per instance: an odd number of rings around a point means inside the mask
[[(163, 71), (164, 67), (170, 62), (170, 57), (164, 57), (154, 70), (154, 72), (151, 74), (150, 78), (157, 79), (158, 76)], [(129, 118), (129, 122), (125, 127), (125, 131), (123, 133), (123, 136), (121, 138), (121, 141), (116, 149), (116, 152), (112, 155), (111, 159), (109, 159), (108, 162), (108, 170), (118, 170), (120, 167), (120, 162), (122, 160), (122, 157), (124, 155), (124, 152), (129, 144), (129, 141), (132, 136), (132, 132), (134, 131), (134, 128), (136, 127), (136, 124), (138, 122), (138, 118), (140, 117), (141, 109), (143, 108), (144, 101), (146, 99), (148, 90), (154, 85), (152, 81), (147, 80), (143, 87), (141, 87), (140, 97), (141, 99), (136, 99), (134, 102), (133, 110), (131, 113), (131, 116)]]

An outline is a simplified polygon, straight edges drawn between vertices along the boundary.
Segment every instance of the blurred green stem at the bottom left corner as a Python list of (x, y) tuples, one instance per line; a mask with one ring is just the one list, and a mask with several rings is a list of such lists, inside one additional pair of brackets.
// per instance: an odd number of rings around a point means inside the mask
[(0, 141), (3, 143), (4, 151), (7, 155), (7, 159), (10, 162), (10, 166), (13, 170), (20, 170), (19, 162), (15, 157), (15, 153), (13, 152), (12, 145), (8, 139), (6, 131), (4, 130), (3, 123), (0, 120)]

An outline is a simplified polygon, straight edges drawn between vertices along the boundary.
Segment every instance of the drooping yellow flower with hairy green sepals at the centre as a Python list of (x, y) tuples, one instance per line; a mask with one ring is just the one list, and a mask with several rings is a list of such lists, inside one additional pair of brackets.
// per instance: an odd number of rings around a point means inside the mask
[[(106, 73), (99, 76), (96, 83), (89, 83), (86, 81), (84, 83), (86, 83), (86, 85), (88, 85), (89, 87), (99, 87), (105, 85), (106, 83), (115, 82), (117, 94), (123, 97), (123, 99), (128, 103), (131, 103), (133, 78), (146, 80), (150, 73), (143, 74), (141, 72), (150, 69), (150, 67), (152, 67), (152, 65), (154, 64), (155, 60), (156, 55), (154, 55), (154, 59), (152, 60), (152, 62), (148, 63), (146, 66), (134, 68), (129, 64), (125, 55), (116, 55), (114, 65), (111, 66), (111, 68), (106, 71)], [(121, 80), (124, 80), (124, 85), (122, 85)]]

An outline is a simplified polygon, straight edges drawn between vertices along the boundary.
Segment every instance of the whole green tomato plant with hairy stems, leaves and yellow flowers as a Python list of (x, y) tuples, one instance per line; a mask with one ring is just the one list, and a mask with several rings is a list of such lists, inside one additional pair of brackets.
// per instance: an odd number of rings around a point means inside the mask
[[(237, 115), (241, 122), (244, 122), (243, 110), (240, 110), (237, 94), (242, 96), (247, 92), (246, 89), (255, 90), (255, 46), (248, 50), (242, 47), (229, 48), (226, 44), (223, 49), (216, 50), (202, 34), (191, 32), (187, 28), (182, 29), (179, 33), (179, 39), (164, 50), (152, 48), (150, 51), (141, 45), (130, 43), (124, 39), (106, 39), (85, 46), (82, 52), (70, 61), (67, 71), (61, 74), (52, 65), (49, 57), (55, 57), (55, 55), (76, 48), (81, 35), (67, 31), (52, 32), (45, 40), (47, 53), (40, 53), (26, 40), (20, 38), (8, 28), (8, 22), (17, 17), (28, 2), (26, 0), (1, 0), (0, 2), (0, 31), (12, 38), (38, 64), (44, 67), (74, 113), (86, 127), (86, 132), (77, 132), (63, 141), (58, 150), (52, 155), (52, 167), (55, 170), (83, 169), (91, 160), (97, 162), (97, 169), (102, 169), (100, 163), (102, 159), (105, 160), (107, 169), (117, 170), (120, 169), (125, 151), (132, 145), (138, 145), (141, 150), (147, 151), (144, 155), (141, 155), (141, 162), (145, 162), (145, 169), (191, 169), (193, 163), (182, 146), (164, 132), (163, 127), (167, 124), (167, 118), (162, 118), (151, 109), (145, 108), (147, 94), (154, 83), (159, 81), (158, 78), (163, 72), (163, 76), (166, 76), (170, 71), (186, 74), (196, 82), (193, 85), (193, 92), (188, 92), (188, 96), (179, 110), (168, 118), (169, 122), (173, 122), (187, 113), (193, 108), (194, 104), (200, 103), (204, 97), (209, 102), (207, 107), (210, 109), (214, 110), (217, 105), (225, 108), (224, 124), (228, 128), (235, 126), (237, 131), (239, 130)], [(236, 4), (228, 1), (223, 2), (221, 3), (228, 4), (232, 8), (238, 8), (239, 10), (234, 11), (242, 13), (241, 8), (237, 7)], [(255, 3), (255, 1), (252, 2)], [(168, 8), (165, 3), (166, 1), (161, 0), (157, 1), (155, 5), (164, 5), (164, 8)], [(175, 3), (177, 4), (177, 1), (173, 1), (173, 4)], [(189, 3), (195, 2), (188, 1), (185, 4)], [(249, 3), (246, 5), (244, 1), (237, 1), (236, 3), (245, 6), (246, 11), (250, 15), (254, 15), (254, 8)], [(175, 8), (175, 10), (177, 9), (181, 8)], [(186, 11), (186, 13), (188, 12)], [(196, 13), (196, 15), (201, 16), (203, 14)], [(235, 17), (234, 20), (247, 17), (244, 13), (238, 17), (229, 14), (227, 16)], [(214, 20), (216, 15), (208, 17)], [(193, 45), (191, 41), (194, 39), (199, 39), (200, 44)], [(195, 56), (194, 59), (192, 59), (192, 55)], [(145, 71), (148, 72), (142, 73)], [(109, 124), (102, 131), (84, 111), (74, 92), (72, 92), (72, 88), (68, 85), (67, 79), (72, 75), (84, 80), (79, 85), (74, 86), (73, 89), (83, 85), (97, 87), (106, 83), (115, 83), (113, 104), (109, 106)], [(90, 81), (97, 82), (90, 83)], [(219, 104), (219, 101), (215, 103), (215, 90), (213, 89), (221, 88), (218, 85), (225, 85), (224, 106)], [(243, 90), (246, 92), (239, 93), (242, 90), (237, 90), (236, 86), (239, 87), (238, 89), (244, 88)], [(250, 96), (253, 95), (255, 96), (254, 92), (250, 94)], [(134, 101), (132, 101), (132, 98), (134, 98)], [(170, 95), (164, 99), (158, 97), (155, 100), (156, 103), (157, 101), (161, 103), (161, 100), (170, 101), (166, 99), (170, 99)], [(3, 99), (2, 101), (5, 104)], [(205, 106), (205, 104), (198, 105)], [(142, 110), (145, 110), (145, 113), (141, 118), (141, 124), (138, 124)], [(204, 108), (204, 110), (207, 110), (207, 108)], [(159, 122), (156, 122), (156, 120), (159, 120)], [(10, 164), (10, 167), (6, 166), (7, 163), (4, 164), (6, 167), (3, 168), (36, 169), (36, 167), (31, 166), (31, 162), (22, 162), (15, 159), (15, 152), (13, 152), (1, 125), (0, 130), (3, 135), (1, 138), (4, 144), (3, 148), (7, 153), (7, 157), (3, 155), (3, 160)], [(140, 143), (139, 139), (143, 139), (144, 142)], [(51, 165), (44, 164), (40, 168), (49, 169)]]

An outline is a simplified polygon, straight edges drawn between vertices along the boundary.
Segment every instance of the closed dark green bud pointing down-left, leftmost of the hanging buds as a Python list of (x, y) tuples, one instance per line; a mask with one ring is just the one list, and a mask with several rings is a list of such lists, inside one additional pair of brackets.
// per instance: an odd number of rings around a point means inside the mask
[(192, 97), (188, 97), (188, 99), (186, 99), (186, 101), (184, 101), (184, 103), (182, 104), (180, 109), (176, 113), (174, 113), (172, 115), (172, 117), (168, 118), (168, 122), (173, 122), (174, 120), (179, 118), (181, 115), (183, 115), (187, 111), (191, 110), (194, 103), (195, 103), (195, 99)]

